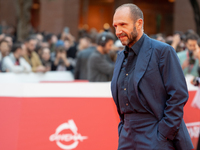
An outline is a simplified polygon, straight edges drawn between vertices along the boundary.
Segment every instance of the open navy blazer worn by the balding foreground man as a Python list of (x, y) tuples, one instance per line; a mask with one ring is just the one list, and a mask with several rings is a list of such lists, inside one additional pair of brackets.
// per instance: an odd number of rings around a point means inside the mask
[[(119, 135), (123, 127), (123, 115), (119, 111), (117, 79), (123, 59), (124, 50), (118, 54), (111, 82), (112, 96), (121, 120)], [(183, 107), (188, 100), (187, 85), (175, 50), (170, 45), (145, 35), (133, 80), (129, 84), (134, 86), (141, 105), (158, 119), (157, 130), (164, 137), (173, 140), (176, 149), (193, 149), (183, 121)], [(132, 101), (130, 100), (131, 105)]]

